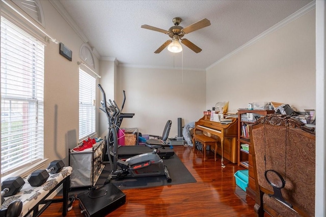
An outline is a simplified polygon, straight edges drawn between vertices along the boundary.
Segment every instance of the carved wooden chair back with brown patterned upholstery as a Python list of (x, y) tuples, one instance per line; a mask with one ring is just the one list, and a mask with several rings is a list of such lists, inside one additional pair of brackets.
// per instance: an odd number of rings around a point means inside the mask
[[(250, 127), (254, 149), (257, 215), (264, 210), (273, 216), (314, 216), (315, 206), (315, 133), (300, 120), (280, 114), (261, 117)], [(274, 197), (265, 178), (266, 170), (275, 170), (285, 179), (281, 194), (288, 208)]]

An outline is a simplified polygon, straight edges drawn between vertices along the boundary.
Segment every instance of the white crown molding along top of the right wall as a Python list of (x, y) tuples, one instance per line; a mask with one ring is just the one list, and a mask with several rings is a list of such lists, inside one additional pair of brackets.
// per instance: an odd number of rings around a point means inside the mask
[(260, 41), (261, 39), (265, 38), (266, 36), (268, 36), (271, 33), (274, 33), (276, 30), (282, 28), (283, 26), (287, 25), (288, 23), (292, 22), (293, 20), (303, 16), (304, 14), (308, 13), (309, 11), (313, 10), (316, 8), (316, 2), (313, 1), (311, 3), (309, 3), (308, 5), (306, 5), (305, 7), (297, 10), (296, 12), (294, 12), (293, 14), (291, 14), (290, 16), (288, 16), (287, 18), (285, 18), (284, 20), (280, 21), (279, 23), (275, 24), (274, 26), (268, 28), (265, 32), (263, 32), (262, 34), (256, 36), (255, 38), (253, 38), (252, 40), (250, 40), (249, 42), (247, 42), (246, 44), (238, 47), (237, 49), (235, 49), (234, 51), (232, 51), (231, 53), (229, 53), (228, 55), (222, 57), (221, 59), (219, 59), (218, 61), (216, 61), (215, 63), (213, 63), (212, 65), (210, 65), (209, 67), (206, 68), (206, 71), (213, 68), (214, 66), (222, 63), (222, 61), (224, 61), (225, 59), (237, 54), (238, 52), (250, 47), (251, 45), (255, 44), (256, 42)]

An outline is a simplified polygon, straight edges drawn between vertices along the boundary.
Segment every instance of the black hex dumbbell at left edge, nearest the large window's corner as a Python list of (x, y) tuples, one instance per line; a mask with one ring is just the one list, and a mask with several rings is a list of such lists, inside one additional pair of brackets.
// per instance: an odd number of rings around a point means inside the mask
[(17, 194), (25, 184), (25, 181), (20, 176), (7, 178), (1, 183), (1, 204), (4, 203), (5, 198)]

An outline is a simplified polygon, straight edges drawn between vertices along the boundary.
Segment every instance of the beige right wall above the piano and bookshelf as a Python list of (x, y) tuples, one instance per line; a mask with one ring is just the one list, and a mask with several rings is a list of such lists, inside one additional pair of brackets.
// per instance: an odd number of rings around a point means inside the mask
[(229, 111), (251, 102), (316, 108), (315, 10), (207, 70), (206, 108), (229, 101)]

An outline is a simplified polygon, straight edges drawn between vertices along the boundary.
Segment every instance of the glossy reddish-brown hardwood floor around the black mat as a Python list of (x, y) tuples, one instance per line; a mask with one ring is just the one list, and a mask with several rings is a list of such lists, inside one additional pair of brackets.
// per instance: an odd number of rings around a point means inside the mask
[[(254, 200), (236, 184), (234, 173), (244, 169), (221, 157), (214, 161), (212, 151), (202, 160), (202, 151), (174, 146), (175, 154), (196, 178), (196, 183), (123, 190), (126, 203), (106, 216), (254, 216)], [(208, 154), (209, 152), (209, 154)], [(67, 216), (83, 216), (78, 200)], [(51, 204), (41, 216), (61, 216), (62, 204)]]

